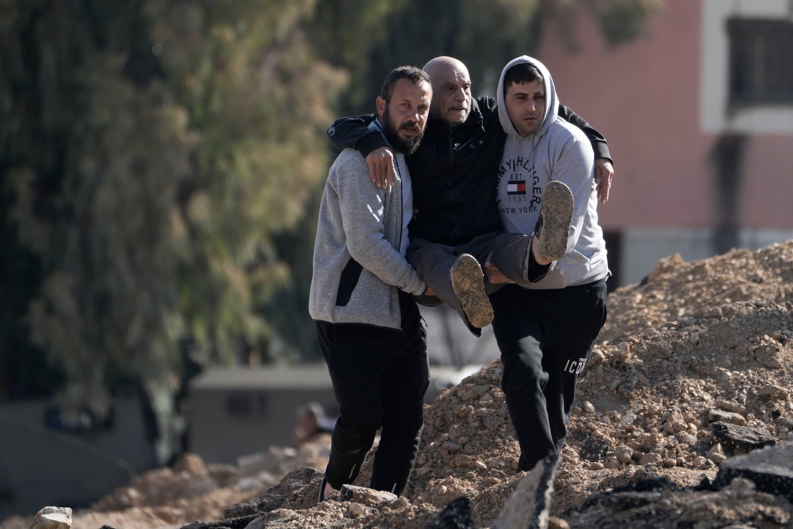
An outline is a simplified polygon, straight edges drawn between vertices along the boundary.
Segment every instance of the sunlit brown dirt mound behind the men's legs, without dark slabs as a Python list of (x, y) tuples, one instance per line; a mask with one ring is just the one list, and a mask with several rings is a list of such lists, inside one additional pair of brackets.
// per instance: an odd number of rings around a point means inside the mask
[[(588, 527), (592, 516), (578, 516), (576, 508), (595, 493), (653, 480), (691, 488), (703, 478), (714, 480), (719, 463), (731, 455), (793, 440), (791, 329), (793, 304), (741, 301), (596, 346), (562, 450), (553, 514)], [(334, 493), (316, 504), (321, 478), (316, 473), (282, 497), (265, 527), (291, 529), (310, 522), (311, 527), (423, 529), (462, 495), (470, 499), (474, 527), (488, 527), (525, 475), (515, 473), (519, 448), (500, 389), (501, 372), (500, 362), (491, 362), (427, 408), (404, 497), (367, 504), (341, 501)], [(745, 438), (724, 435), (724, 424), (742, 428)], [(371, 458), (356, 485), (366, 485), (370, 475)], [(703, 494), (664, 497), (681, 505), (690, 501), (699, 506), (695, 511), (703, 504), (729, 503), (723, 494)], [(770, 495), (747, 498), (756, 508), (722, 512), (720, 519), (745, 522), (767, 505), (790, 506)]]

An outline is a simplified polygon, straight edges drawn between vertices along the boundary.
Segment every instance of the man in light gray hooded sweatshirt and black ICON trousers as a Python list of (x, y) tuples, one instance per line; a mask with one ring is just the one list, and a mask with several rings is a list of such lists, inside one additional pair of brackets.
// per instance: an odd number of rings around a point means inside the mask
[[(557, 117), (550, 72), (537, 59), (512, 59), (497, 98), (507, 140), (496, 202), (506, 232), (532, 237), (529, 268), (540, 279), (502, 274), (497, 255), (485, 272), (491, 282), (515, 280), (490, 297), (492, 325), (521, 449), (519, 470), (531, 470), (565, 442), (578, 376), (606, 320), (609, 270), (592, 146), (579, 128)], [(523, 236), (515, 237), (519, 243)]]

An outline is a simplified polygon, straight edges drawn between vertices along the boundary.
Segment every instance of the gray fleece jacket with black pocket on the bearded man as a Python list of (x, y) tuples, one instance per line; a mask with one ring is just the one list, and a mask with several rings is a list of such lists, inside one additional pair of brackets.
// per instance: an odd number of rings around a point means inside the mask
[[(379, 127), (378, 121), (370, 125)], [(366, 159), (355, 149), (342, 151), (331, 166), (308, 295), (314, 320), (400, 329), (397, 289), (421, 294), (426, 288), (404, 259), (408, 233), (402, 197), (412, 193), (404, 155), (395, 157), (397, 183), (385, 190), (371, 182)], [(407, 209), (412, 212), (412, 205)]]

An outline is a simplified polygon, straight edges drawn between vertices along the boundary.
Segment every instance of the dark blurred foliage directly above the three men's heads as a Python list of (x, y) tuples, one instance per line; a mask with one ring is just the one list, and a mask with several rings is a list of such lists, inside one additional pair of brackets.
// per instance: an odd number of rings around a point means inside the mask
[[(493, 95), (501, 68), (509, 59), (534, 53), (542, 21), (561, 21), (561, 32), (574, 50), (576, 6), (592, 11), (607, 42), (622, 44), (640, 36), (662, 0), (402, 0), (399, 9), (385, 18), (385, 39), (371, 48), (370, 72), (355, 94), (364, 98), (345, 101), (351, 113), (374, 111), (381, 79), (397, 64), (423, 66), (435, 56), (454, 56), (469, 68), (473, 94)], [(429, 24), (424, 21), (429, 21)]]

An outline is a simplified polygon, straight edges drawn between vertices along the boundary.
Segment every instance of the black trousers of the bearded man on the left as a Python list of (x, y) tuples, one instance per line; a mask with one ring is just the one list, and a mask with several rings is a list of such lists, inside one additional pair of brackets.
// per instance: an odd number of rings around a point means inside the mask
[(429, 385), (427, 335), (416, 303), (400, 291), (402, 330), (316, 321), (340, 416), (325, 477), (334, 489), (358, 477), (377, 430), (370, 488), (400, 495), (419, 451)]

